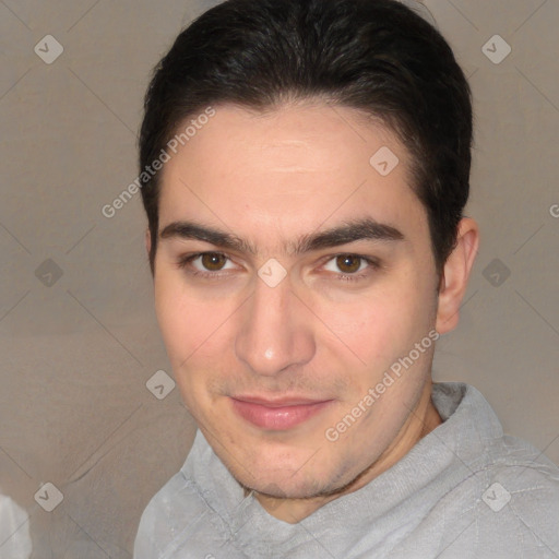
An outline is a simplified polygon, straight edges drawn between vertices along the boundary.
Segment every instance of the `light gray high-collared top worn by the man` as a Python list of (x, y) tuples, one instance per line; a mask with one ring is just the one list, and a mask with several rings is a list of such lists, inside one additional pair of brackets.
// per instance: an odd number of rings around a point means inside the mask
[(270, 515), (198, 431), (145, 509), (134, 559), (559, 558), (559, 467), (503, 433), (479, 391), (433, 384), (443, 423), (298, 524)]

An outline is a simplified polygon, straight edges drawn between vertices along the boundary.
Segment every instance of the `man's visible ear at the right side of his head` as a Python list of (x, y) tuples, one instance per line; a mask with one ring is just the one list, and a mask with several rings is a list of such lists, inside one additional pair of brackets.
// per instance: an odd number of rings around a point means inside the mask
[(451, 252), (441, 276), (437, 308), (437, 332), (445, 334), (456, 328), (460, 305), (479, 247), (479, 228), (469, 217), (459, 224), (456, 247)]

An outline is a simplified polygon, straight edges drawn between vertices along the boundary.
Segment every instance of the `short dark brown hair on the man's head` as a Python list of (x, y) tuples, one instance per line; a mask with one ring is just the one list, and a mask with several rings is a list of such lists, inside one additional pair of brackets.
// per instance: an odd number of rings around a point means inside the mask
[[(441, 34), (395, 0), (228, 0), (206, 11), (154, 70), (140, 169), (210, 105), (264, 111), (314, 97), (374, 116), (406, 146), (440, 274), (469, 192), (472, 94)], [(159, 176), (141, 189), (152, 273)]]

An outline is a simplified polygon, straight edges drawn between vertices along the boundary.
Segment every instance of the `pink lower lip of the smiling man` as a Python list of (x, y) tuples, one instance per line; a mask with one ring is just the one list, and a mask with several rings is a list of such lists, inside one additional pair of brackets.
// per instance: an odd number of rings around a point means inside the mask
[(234, 409), (247, 421), (273, 431), (284, 431), (296, 427), (324, 409), (331, 400), (295, 406), (269, 407), (252, 402), (231, 399)]

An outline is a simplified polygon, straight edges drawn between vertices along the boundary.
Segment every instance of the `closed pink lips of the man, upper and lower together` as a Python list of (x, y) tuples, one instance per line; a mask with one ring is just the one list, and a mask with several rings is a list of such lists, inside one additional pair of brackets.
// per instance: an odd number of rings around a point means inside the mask
[(247, 421), (262, 429), (282, 431), (296, 427), (324, 409), (332, 400), (263, 400), (231, 397), (234, 409)]

